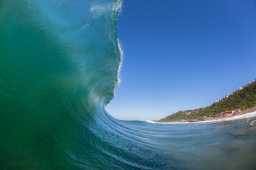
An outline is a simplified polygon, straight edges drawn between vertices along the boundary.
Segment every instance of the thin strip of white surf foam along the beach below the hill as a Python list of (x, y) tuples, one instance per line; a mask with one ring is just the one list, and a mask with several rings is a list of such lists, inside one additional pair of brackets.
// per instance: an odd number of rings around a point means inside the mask
[[(230, 120), (238, 120), (243, 118), (252, 118), (256, 117), (256, 111), (250, 112), (250, 113), (244, 113), (242, 115), (235, 115), (228, 118), (218, 118), (215, 120), (206, 120), (206, 121), (195, 121), (195, 122), (162, 122), (160, 124), (187, 124), (187, 123), (218, 123), (218, 122), (225, 122)], [(146, 120), (147, 123), (159, 123), (151, 120)]]

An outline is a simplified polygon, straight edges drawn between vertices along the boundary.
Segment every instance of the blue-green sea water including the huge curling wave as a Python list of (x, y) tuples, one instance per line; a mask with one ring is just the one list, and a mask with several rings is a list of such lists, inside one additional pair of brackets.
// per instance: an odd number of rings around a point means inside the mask
[[(256, 118), (112, 118), (119, 0), (0, 0), (0, 169), (256, 169)], [(122, 114), (122, 113), (120, 113)]]

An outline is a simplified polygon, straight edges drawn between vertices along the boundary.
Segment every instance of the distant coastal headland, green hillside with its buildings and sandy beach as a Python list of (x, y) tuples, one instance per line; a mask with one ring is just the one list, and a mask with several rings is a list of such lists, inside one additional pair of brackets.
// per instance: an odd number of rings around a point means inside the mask
[(256, 81), (239, 87), (208, 107), (179, 111), (157, 123), (191, 123), (233, 118), (246, 113), (256, 112)]

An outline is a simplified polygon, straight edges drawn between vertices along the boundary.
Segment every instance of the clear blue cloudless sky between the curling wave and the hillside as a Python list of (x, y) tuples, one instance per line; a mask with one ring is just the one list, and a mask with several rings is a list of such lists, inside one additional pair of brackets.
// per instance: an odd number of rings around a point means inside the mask
[(256, 77), (255, 0), (124, 0), (114, 118), (209, 106)]

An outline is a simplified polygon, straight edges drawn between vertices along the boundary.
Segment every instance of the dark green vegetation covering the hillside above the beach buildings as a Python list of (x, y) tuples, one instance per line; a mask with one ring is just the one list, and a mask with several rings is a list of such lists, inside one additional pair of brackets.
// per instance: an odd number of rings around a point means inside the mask
[(256, 81), (243, 86), (242, 89), (235, 91), (228, 97), (204, 108), (197, 108), (188, 111), (179, 111), (159, 120), (158, 122), (173, 122), (181, 120), (194, 120), (203, 116), (216, 116), (220, 112), (245, 110), (256, 106)]

